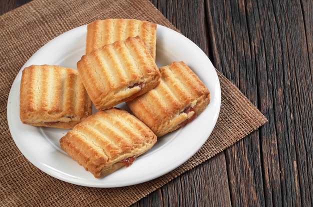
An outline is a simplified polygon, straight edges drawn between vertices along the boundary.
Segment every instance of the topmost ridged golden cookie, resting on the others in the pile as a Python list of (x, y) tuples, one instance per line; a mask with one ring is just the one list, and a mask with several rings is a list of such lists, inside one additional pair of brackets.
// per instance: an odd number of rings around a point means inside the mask
[(141, 38), (105, 44), (77, 62), (78, 73), (97, 109), (130, 100), (155, 87), (160, 72)]

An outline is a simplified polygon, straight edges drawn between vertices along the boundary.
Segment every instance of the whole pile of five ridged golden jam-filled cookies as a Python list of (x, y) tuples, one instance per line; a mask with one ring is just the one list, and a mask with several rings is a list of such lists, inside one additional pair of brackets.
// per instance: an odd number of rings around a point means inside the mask
[[(183, 61), (157, 68), (156, 26), (137, 19), (95, 20), (87, 25), (77, 70), (25, 67), (21, 121), (72, 128), (60, 146), (95, 177), (129, 166), (157, 137), (192, 121), (210, 101), (208, 89)], [(115, 107), (121, 102), (132, 114)], [(92, 103), (98, 110), (93, 114)]]

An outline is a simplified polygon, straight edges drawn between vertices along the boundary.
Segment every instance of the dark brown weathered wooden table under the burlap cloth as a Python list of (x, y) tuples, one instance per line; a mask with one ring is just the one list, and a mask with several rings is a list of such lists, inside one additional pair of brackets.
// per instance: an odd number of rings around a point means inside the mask
[(151, 2), (268, 122), (133, 206), (313, 205), (312, 1)]

